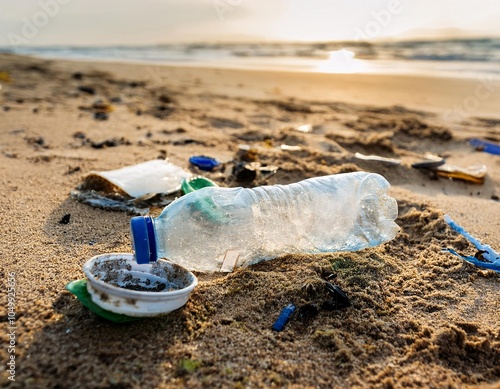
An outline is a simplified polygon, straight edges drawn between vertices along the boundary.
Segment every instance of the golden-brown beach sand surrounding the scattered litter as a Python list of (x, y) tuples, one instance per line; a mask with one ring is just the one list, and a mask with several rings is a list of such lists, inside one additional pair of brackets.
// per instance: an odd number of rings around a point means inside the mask
[[(500, 249), (500, 157), (467, 142), (500, 141), (498, 85), (462, 118), (446, 113), (481, 81), (10, 55), (0, 55), (1, 71), (10, 75), (0, 81), (1, 285), (6, 290), (15, 273), (17, 386), (500, 387), (499, 276), (440, 252), (475, 253), (444, 213)], [(94, 119), (98, 99), (114, 99), (109, 120)], [(311, 133), (294, 129), (304, 123)], [(245, 155), (239, 144), (259, 149)], [(360, 161), (355, 152), (403, 163)], [(426, 152), (486, 165), (485, 183), (412, 169)], [(200, 274), (188, 304), (166, 317), (126, 325), (96, 317), (64, 285), (83, 277), (88, 258), (131, 251), (130, 216), (76, 203), (69, 192), (91, 170), (165, 157), (189, 168), (193, 154), (227, 163), (224, 172), (202, 173), (221, 186), (240, 185), (229, 173), (241, 158), (279, 166), (248, 186), (381, 173), (398, 200), (401, 233), (357, 253), (282, 256), (229, 275)], [(60, 224), (65, 214), (70, 222)], [(320, 306), (330, 274), (350, 308), (297, 315), (282, 333), (271, 330), (290, 302)], [(5, 294), (0, 309), (8, 385)]]

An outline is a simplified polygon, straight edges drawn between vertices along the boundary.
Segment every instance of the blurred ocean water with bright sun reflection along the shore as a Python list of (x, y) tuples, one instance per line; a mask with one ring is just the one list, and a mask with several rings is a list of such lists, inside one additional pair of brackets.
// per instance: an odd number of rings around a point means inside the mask
[(3, 47), (44, 58), (318, 73), (500, 78), (500, 38), (324, 43)]

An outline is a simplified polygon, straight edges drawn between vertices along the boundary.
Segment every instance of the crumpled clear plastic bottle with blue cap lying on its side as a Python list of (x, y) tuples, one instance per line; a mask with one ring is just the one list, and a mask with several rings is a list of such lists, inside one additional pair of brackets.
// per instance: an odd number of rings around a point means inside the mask
[(157, 258), (231, 271), (286, 253), (355, 251), (395, 237), (396, 200), (379, 174), (356, 172), (252, 189), (207, 187), (157, 217), (131, 219), (138, 263)]

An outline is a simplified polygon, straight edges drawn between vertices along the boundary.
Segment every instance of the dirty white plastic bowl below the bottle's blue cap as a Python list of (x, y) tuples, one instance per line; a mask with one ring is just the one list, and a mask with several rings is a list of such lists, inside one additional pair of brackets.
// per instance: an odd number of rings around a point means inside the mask
[(128, 253), (97, 255), (83, 265), (83, 271), (94, 303), (136, 317), (164, 315), (182, 307), (198, 284), (182, 266), (163, 259), (139, 265)]

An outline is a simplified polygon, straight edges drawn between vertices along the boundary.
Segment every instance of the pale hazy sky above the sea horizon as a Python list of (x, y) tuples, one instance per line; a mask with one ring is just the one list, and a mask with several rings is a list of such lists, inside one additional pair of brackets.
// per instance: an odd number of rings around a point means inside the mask
[(498, 0), (0, 0), (0, 46), (500, 37)]

